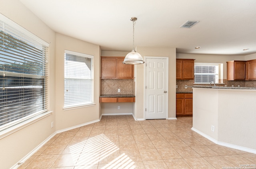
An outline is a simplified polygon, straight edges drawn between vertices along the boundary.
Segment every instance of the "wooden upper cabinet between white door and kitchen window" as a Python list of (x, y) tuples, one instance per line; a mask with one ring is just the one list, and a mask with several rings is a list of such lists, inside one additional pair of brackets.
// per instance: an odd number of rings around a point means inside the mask
[(194, 59), (176, 59), (176, 79), (194, 79)]

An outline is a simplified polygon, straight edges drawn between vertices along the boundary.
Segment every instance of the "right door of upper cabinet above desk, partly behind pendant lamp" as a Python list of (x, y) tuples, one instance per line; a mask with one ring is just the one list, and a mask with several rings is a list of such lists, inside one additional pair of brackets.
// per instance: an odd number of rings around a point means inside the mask
[(117, 59), (117, 78), (118, 79), (133, 79), (134, 65), (122, 63), (124, 57)]

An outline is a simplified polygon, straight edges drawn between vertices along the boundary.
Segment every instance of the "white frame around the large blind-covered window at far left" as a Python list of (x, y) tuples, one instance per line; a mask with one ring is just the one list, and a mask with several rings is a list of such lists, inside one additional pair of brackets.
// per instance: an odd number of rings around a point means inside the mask
[[(37, 78), (37, 77), (44, 77), (43, 79), (43, 99), (42, 99), (42, 110), (40, 111), (36, 111), (32, 114), (26, 115), (26, 116), (20, 116), (20, 118), (18, 118), (17, 120), (11, 121), (7, 124), (3, 124), (0, 126), (0, 138), (3, 138), (17, 130), (20, 130), (26, 126), (28, 126), (29, 124), (32, 124), (48, 115), (50, 115), (50, 113), (52, 111), (49, 111), (49, 102), (48, 102), (48, 48), (49, 48), (49, 43), (47, 43), (46, 41), (42, 40), (40, 37), (34, 35), (33, 33), (31, 33), (30, 31), (28, 31), (27, 29), (23, 28), (22, 26), (18, 25), (17, 23), (13, 22), (12, 20), (10, 20), (9, 18), (7, 18), (6, 16), (0, 14), (0, 21), (3, 24), (1, 29), (3, 32), (7, 33), (7, 35), (11, 35), (14, 39), (17, 39), (18, 41), (22, 41), (23, 43), (28, 43), (28, 44), (32, 44), (32, 45), (39, 45), (42, 47), (45, 47), (45, 50), (43, 51), (44, 55), (42, 56), (43, 59), (43, 64), (45, 65), (44, 67), (44, 73), (43, 75), (33, 75), (33, 74), (24, 74), (24, 73), (19, 73), (19, 72), (12, 72), (12, 71), (1, 71), (3, 77), (5, 77), (5, 73), (8, 73), (8, 75), (12, 76), (12, 77), (21, 77), (21, 75), (24, 75), (24, 77), (26, 78)], [(14, 33), (15, 32), (15, 33)], [(22, 35), (22, 36), (20, 36)], [(18, 48), (17, 48), (18, 49)], [(17, 50), (17, 52), (20, 50)], [(2, 56), (5, 56), (6, 54), (4, 54)], [(18, 58), (22, 55), (17, 55)], [(15, 59), (14, 58), (14, 59)], [(22, 63), (22, 62), (21, 62)], [(24, 62), (25, 63), (25, 62)], [(14, 69), (13, 69), (14, 70)], [(3, 82), (4, 83), (4, 82)], [(26, 85), (24, 86), (20, 86), (22, 88), (26, 88)], [(12, 88), (12, 87), (8, 87), (8, 88)], [(8, 105), (8, 104), (7, 104)], [(22, 112), (21, 112), (22, 113)]]

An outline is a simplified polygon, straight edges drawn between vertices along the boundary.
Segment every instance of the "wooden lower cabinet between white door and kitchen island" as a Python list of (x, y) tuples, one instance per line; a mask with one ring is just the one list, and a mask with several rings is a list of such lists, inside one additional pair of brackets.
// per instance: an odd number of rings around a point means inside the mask
[(193, 94), (176, 94), (176, 116), (193, 115)]

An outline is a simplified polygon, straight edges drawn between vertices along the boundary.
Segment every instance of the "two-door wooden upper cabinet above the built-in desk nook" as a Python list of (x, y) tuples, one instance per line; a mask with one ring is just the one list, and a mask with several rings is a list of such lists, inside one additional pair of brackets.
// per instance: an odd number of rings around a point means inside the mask
[(134, 65), (123, 61), (124, 57), (101, 57), (101, 79), (133, 79)]

